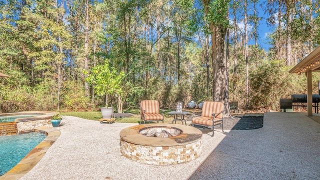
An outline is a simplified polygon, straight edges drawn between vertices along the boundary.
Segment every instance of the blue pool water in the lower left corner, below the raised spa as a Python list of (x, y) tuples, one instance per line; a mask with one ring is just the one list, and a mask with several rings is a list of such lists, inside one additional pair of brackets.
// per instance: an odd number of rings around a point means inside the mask
[(14, 167), (45, 137), (41, 132), (0, 136), (0, 176)]

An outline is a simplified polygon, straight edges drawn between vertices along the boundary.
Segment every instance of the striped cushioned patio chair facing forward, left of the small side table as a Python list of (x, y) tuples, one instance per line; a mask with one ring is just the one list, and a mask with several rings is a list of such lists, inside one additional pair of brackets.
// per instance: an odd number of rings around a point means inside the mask
[[(163, 123), (163, 110), (159, 108), (159, 102), (157, 100), (141, 100), (140, 103), (141, 115), (140, 124), (145, 121), (162, 121)], [(162, 111), (160, 113), (159, 111)]]

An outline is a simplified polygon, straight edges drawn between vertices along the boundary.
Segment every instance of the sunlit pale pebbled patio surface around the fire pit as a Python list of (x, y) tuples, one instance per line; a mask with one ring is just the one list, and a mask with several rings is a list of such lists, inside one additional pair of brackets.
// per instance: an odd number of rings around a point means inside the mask
[(57, 127), (61, 135), (41, 160), (20, 179), (188, 179), (226, 136), (201, 129), (202, 153), (189, 162), (176, 165), (141, 164), (122, 156), (121, 129), (137, 123), (99, 123), (63, 116)]

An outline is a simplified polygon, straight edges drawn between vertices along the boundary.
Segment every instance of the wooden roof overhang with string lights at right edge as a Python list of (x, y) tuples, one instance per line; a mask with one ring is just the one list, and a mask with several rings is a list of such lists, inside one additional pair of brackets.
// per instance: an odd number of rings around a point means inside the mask
[(320, 71), (320, 45), (289, 70), (289, 73)]

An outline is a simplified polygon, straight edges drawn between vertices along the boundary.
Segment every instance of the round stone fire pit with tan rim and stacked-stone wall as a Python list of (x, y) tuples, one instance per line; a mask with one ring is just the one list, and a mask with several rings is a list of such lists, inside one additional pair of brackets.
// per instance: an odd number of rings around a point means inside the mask
[(120, 131), (120, 151), (144, 164), (178, 164), (200, 155), (201, 137), (199, 129), (187, 125), (139, 124)]

